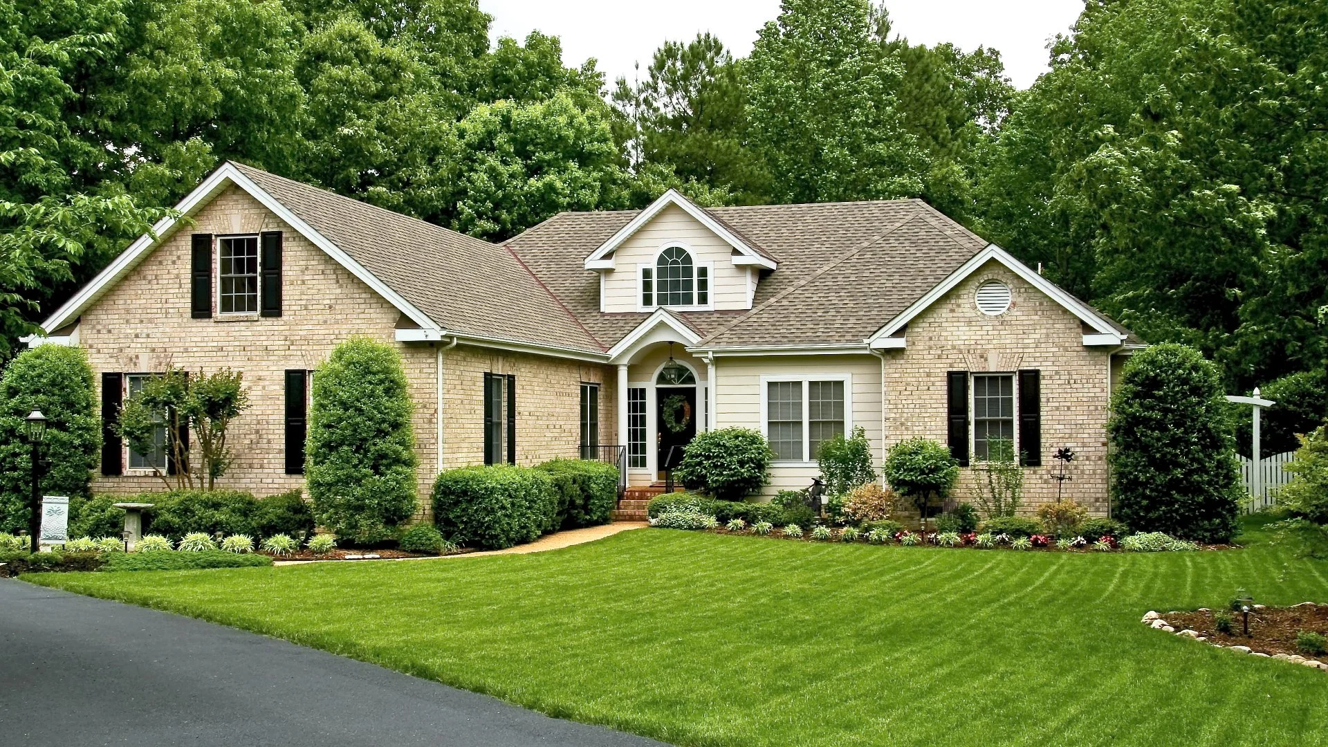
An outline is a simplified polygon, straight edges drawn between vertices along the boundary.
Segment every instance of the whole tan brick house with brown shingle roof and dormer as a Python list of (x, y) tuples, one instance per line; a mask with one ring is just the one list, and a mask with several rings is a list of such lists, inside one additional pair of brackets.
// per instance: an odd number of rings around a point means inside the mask
[(473, 464), (610, 459), (645, 488), (728, 425), (770, 439), (772, 493), (809, 485), (819, 443), (861, 425), (878, 463), (910, 436), (947, 443), (960, 494), (1013, 440), (1028, 508), (1073, 447), (1069, 493), (1106, 510), (1109, 397), (1138, 340), (916, 199), (703, 209), (668, 191), (494, 245), (227, 162), (177, 209), (29, 340), (89, 354), (96, 492), (162, 485), (163, 452), (109, 425), (170, 367), (244, 375), (223, 486), (301, 486), (308, 377), (361, 335), (401, 354), (421, 512), (441, 469)]

